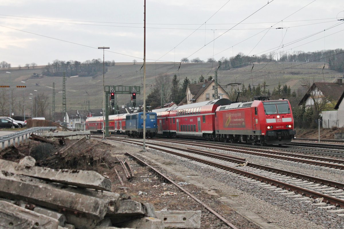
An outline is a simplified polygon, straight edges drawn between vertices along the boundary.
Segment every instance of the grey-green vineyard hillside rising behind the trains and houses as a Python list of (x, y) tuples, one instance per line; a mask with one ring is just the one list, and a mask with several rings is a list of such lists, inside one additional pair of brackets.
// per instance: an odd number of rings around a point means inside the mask
[[(244, 83), (247, 87), (248, 84), (260, 85), (266, 81), (267, 89), (270, 91), (277, 87), (280, 82), (282, 85), (290, 85), (292, 91), (304, 94), (306, 87), (302, 87), (305, 84), (305, 80), (310, 82), (335, 82), (337, 77), (340, 77), (338, 72), (332, 72), (331, 70), (323, 69), (323, 62), (310, 62), (302, 64), (300, 62), (282, 62), (282, 63), (254, 63), (238, 69), (219, 69), (218, 81), (220, 85), (227, 83), (240, 82)], [(299, 65), (299, 66), (297, 66)], [(108, 67), (108, 71), (105, 74), (105, 85), (138, 85), (141, 86), (141, 95), (137, 96), (137, 104), (142, 104), (143, 98), (143, 68), (142, 63), (116, 63), (115, 66)], [(189, 78), (191, 82), (198, 80), (203, 75), (205, 78), (212, 75), (218, 67), (218, 63), (182, 63), (179, 68), (179, 63), (147, 63), (146, 64), (146, 84), (147, 95), (152, 90), (155, 83), (155, 77), (159, 75), (165, 75), (171, 77), (176, 74), (180, 82), (185, 77)], [(252, 72), (251, 72), (252, 69)], [(11, 74), (6, 73), (7, 71)], [(13, 91), (13, 97), (18, 104), (26, 104), (26, 113), (31, 114), (31, 105), (35, 107), (35, 104), (31, 104), (29, 97), (30, 93), (35, 97), (37, 93), (45, 93), (49, 96), (49, 106), (52, 106), (52, 88), (55, 83), (55, 110), (59, 112), (62, 110), (62, 77), (45, 77), (34, 76), (42, 73), (44, 66), (37, 66), (35, 69), (1, 69), (1, 85), (11, 86), (26, 85), (26, 88), (15, 88)], [(9, 76), (10, 75), (10, 76)], [(11, 77), (11, 81), (9, 77)], [(22, 83), (24, 81), (25, 83)], [(226, 90), (230, 90), (228, 87)], [(1, 90), (8, 90), (1, 88)], [(103, 74), (96, 77), (75, 77), (67, 78), (66, 80), (66, 103), (67, 110), (87, 110), (88, 101), (91, 109), (100, 109), (102, 107), (103, 98)], [(125, 105), (130, 102), (130, 95), (118, 95), (118, 105)], [(148, 105), (148, 104), (147, 104)], [(30, 109), (29, 109), (30, 108)], [(49, 114), (49, 110), (46, 111)]]

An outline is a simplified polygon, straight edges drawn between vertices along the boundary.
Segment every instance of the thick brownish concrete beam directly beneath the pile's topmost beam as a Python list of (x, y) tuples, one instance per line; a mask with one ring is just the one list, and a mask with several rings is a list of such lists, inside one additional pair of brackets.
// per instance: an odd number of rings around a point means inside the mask
[(39, 179), (0, 172), (0, 196), (25, 200), (50, 209), (82, 213), (87, 218), (104, 218), (107, 206), (102, 199), (72, 191), (71, 188)]

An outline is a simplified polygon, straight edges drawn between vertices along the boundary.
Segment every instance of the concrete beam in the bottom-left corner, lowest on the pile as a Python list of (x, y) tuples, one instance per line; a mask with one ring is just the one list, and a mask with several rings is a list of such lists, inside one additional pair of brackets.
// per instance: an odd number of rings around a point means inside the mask
[(6, 201), (0, 201), (0, 227), (16, 229), (57, 229), (57, 219), (35, 213)]

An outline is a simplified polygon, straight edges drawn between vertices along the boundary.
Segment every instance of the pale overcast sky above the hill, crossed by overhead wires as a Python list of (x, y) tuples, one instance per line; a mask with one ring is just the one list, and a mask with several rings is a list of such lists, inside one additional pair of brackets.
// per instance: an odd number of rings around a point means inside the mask
[[(142, 62), (143, 5), (0, 0), (0, 62), (103, 59), (99, 46), (105, 60)], [(146, 61), (344, 48), (343, 10), (343, 0), (146, 0)]]

